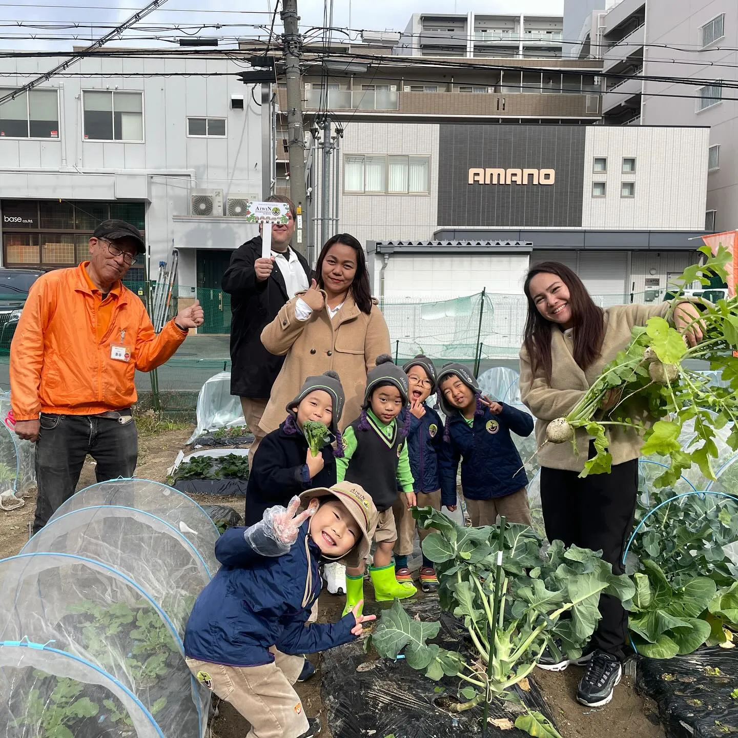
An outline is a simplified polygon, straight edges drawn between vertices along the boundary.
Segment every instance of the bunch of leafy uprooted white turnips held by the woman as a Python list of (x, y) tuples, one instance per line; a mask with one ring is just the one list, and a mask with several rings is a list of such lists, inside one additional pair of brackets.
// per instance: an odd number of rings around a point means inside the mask
[[(731, 255), (721, 246), (707, 259), (689, 266), (677, 280), (684, 288), (695, 280), (708, 283), (710, 275), (725, 277), (725, 264)], [(678, 290), (677, 290), (678, 292)], [(666, 314), (668, 319), (680, 297), (675, 297)], [(712, 461), (717, 458), (715, 430), (728, 426), (728, 445), (738, 448), (738, 298), (718, 300), (714, 305), (700, 303), (700, 321), (705, 325), (703, 341), (688, 348), (682, 334), (668, 320), (652, 317), (644, 326), (632, 329), (630, 344), (607, 364), (600, 376), (564, 418), (548, 425), (547, 443), (570, 441), (575, 452), (576, 430), (582, 428), (594, 438), (596, 455), (584, 463), (582, 476), (610, 472), (612, 457), (608, 451), (607, 431), (615, 427), (636, 430), (644, 438), (643, 455), (666, 457), (668, 465), (655, 480), (656, 486), (670, 486), (685, 469), (697, 463), (708, 479), (714, 479)], [(717, 387), (708, 376), (689, 368), (690, 359), (709, 362), (721, 370), (728, 386)], [(619, 393), (617, 404), (604, 414), (601, 408)], [(653, 424), (646, 423), (654, 420)], [(694, 436), (683, 448), (679, 437), (687, 421), (694, 423)]]

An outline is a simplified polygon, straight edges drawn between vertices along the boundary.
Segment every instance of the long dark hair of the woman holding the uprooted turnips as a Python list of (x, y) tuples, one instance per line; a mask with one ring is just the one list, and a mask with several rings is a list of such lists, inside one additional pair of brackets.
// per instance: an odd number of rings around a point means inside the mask
[(569, 308), (576, 325), (574, 361), (582, 369), (599, 356), (604, 339), (604, 321), (602, 308), (595, 305), (582, 280), (568, 266), (558, 261), (543, 261), (528, 269), (523, 287), (528, 298), (523, 345), (531, 359), (534, 376), (542, 369), (546, 381), (551, 382), (551, 321), (539, 313), (531, 297), (531, 279), (543, 273), (556, 275), (569, 289)]

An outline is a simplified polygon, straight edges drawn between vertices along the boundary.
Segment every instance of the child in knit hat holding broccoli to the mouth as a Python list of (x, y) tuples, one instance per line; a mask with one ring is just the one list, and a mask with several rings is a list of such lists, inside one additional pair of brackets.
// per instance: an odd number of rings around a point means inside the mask
[(308, 376), (292, 402), (287, 418), (264, 436), (254, 455), (246, 486), (246, 525), (254, 525), (266, 508), (315, 486), (336, 483), (336, 455), (342, 454), (338, 421), (343, 410), (341, 380), (334, 371)]

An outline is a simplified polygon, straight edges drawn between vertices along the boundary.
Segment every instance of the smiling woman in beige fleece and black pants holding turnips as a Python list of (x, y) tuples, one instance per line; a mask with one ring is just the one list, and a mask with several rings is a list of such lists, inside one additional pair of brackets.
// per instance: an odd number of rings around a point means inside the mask
[[(576, 432), (579, 455), (570, 444), (543, 446), (546, 427), (554, 418), (567, 415), (607, 362), (630, 342), (634, 325), (654, 316), (665, 316), (668, 303), (624, 305), (601, 309), (593, 303), (582, 280), (561, 263), (537, 264), (525, 279), (528, 320), (520, 351), (520, 396), (537, 418), (536, 438), (541, 464), (541, 505), (546, 536), (565, 545), (601, 549), (602, 558), (622, 573), (621, 559), (630, 534), (638, 494), (638, 452), (641, 439), (629, 428), (608, 432), (613, 468), (610, 474), (579, 478), (587, 453), (593, 446), (587, 432)], [(673, 313), (677, 328), (686, 328), (694, 343), (702, 340), (699, 317), (691, 303), (680, 303)], [(689, 325), (692, 323), (692, 325)], [(619, 397), (612, 392), (606, 405)], [(627, 613), (616, 597), (599, 601), (601, 620), (590, 647), (582, 658), (542, 658), (543, 669), (560, 671), (569, 663), (587, 663), (579, 682), (577, 699), (593, 707), (612, 699), (620, 681), (627, 639)]]

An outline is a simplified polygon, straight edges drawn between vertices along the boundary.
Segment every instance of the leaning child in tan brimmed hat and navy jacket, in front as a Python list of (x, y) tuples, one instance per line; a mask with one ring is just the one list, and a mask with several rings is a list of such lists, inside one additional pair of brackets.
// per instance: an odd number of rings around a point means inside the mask
[[(300, 502), (307, 509), (295, 516)], [(303, 492), (289, 508), (269, 508), (263, 520), (229, 528), (215, 544), (221, 568), (190, 613), (184, 655), (197, 680), (251, 723), (249, 736), (320, 731), (292, 688), (305, 665), (301, 654), (353, 641), (375, 616), (360, 615), (360, 602), (337, 623), (308, 624), (320, 593), (318, 566), (364, 559), (376, 518), (371, 497), (344, 482)]]

